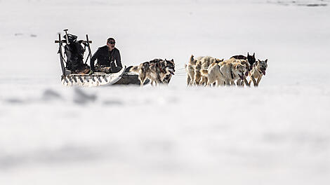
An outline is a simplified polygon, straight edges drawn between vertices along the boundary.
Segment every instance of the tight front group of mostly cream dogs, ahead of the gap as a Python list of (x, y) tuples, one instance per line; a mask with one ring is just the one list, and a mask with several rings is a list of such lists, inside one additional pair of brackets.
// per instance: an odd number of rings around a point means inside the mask
[[(265, 75), (268, 60), (256, 60), (253, 55), (235, 55), (228, 60), (215, 57), (197, 57), (192, 55), (185, 65), (187, 85), (237, 85), (258, 86)], [(249, 78), (249, 81), (247, 81)]]

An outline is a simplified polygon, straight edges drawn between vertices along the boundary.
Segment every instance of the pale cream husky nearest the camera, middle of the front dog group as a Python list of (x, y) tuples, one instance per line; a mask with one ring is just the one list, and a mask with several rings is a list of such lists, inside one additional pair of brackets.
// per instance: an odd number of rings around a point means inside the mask
[(247, 69), (242, 62), (237, 62), (235, 59), (225, 60), (218, 64), (211, 64), (208, 69), (207, 85), (216, 83), (218, 85), (235, 85), (237, 79), (243, 80)]

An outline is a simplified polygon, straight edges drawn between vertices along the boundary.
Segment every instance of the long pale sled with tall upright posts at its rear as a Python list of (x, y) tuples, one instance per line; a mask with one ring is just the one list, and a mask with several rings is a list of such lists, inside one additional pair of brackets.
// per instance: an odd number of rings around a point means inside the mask
[[(58, 40), (55, 41), (55, 43), (58, 43), (58, 54), (60, 55), (60, 66), (62, 69), (61, 83), (63, 85), (84, 86), (84, 87), (95, 87), (100, 85), (119, 85), (119, 84), (140, 85), (140, 80), (138, 79), (138, 75), (133, 74), (128, 70), (126, 70), (126, 66), (123, 67), (120, 71), (111, 74), (106, 74), (102, 72), (95, 72), (93, 74), (74, 74), (74, 72), (70, 70), (70, 68), (68, 69), (68, 61), (65, 61), (62, 52), (63, 48), (65, 48), (65, 46), (68, 46), (69, 43), (71, 43), (70, 38), (68, 38), (68, 35), (70, 34), (67, 34), (67, 29), (65, 29), (64, 31), (65, 31), (65, 39), (62, 40), (61, 35), (59, 33)], [(86, 50), (86, 48), (88, 49), (88, 55), (86, 61), (85, 62), (83, 61), (84, 64), (86, 64), (88, 58), (91, 59), (92, 57), (91, 46), (90, 46), (90, 43), (92, 43), (92, 41), (89, 41), (88, 35), (86, 34), (86, 41), (80, 40), (77, 41), (77, 43), (84, 44), (85, 46), (84, 50)], [(145, 84), (147, 83), (149, 83), (149, 81), (145, 81)]]

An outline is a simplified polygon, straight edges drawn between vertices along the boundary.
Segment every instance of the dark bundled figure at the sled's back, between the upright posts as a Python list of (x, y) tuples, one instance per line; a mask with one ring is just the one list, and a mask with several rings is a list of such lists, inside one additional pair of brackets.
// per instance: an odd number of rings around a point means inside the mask
[[(66, 36), (65, 36), (66, 38)], [(73, 74), (86, 74), (89, 72), (89, 67), (84, 64), (84, 48), (81, 46), (81, 41), (77, 41), (77, 36), (67, 34), (69, 43), (65, 45), (65, 55), (67, 55), (67, 69)]]

